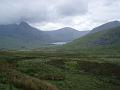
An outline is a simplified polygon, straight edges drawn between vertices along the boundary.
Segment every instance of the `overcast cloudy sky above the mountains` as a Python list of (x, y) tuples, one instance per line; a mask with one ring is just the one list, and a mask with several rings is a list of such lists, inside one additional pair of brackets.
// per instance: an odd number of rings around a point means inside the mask
[(0, 0), (0, 24), (83, 31), (114, 20), (120, 21), (120, 0)]

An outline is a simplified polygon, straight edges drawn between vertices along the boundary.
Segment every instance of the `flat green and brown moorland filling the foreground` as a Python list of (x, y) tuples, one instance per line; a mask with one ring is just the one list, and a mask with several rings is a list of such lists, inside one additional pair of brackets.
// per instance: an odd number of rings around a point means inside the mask
[(120, 90), (119, 53), (1, 51), (0, 90)]

